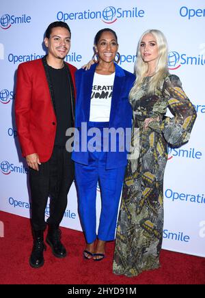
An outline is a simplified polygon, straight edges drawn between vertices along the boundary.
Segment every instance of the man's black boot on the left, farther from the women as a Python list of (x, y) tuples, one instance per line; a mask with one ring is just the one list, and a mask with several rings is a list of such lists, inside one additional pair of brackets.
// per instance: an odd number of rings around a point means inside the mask
[(29, 264), (33, 268), (40, 268), (44, 265), (44, 230), (33, 230), (33, 249), (29, 258)]

